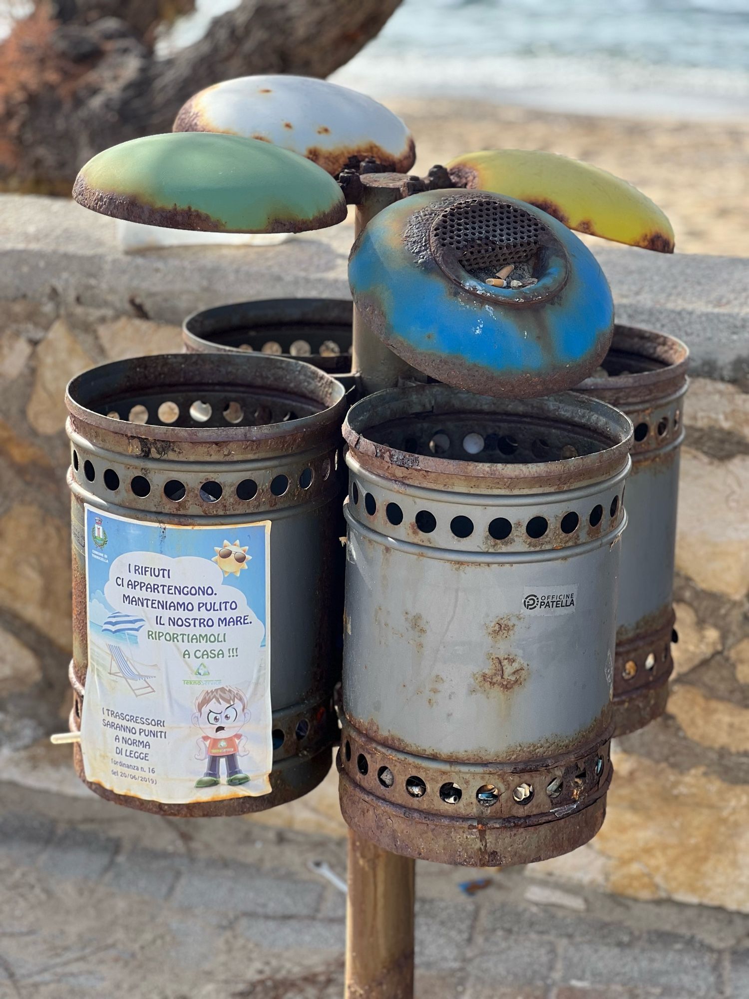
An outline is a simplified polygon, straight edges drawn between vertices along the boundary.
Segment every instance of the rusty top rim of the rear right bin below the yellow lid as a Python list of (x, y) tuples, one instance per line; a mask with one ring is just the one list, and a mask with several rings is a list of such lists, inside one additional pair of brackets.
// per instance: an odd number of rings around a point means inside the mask
[(646, 361), (657, 361), (663, 367), (608, 378), (591, 376), (576, 387), (577, 392), (590, 393), (616, 406), (630, 399), (641, 399), (642, 402), (655, 400), (664, 384), (686, 380), (689, 348), (676, 337), (656, 333), (654, 330), (615, 324), (609, 354), (612, 351), (621, 351)]

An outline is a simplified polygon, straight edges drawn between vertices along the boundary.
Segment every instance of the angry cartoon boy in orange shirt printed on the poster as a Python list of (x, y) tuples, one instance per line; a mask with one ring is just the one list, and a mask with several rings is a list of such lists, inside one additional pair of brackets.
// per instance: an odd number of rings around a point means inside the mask
[(214, 687), (204, 690), (195, 702), (193, 724), (203, 732), (198, 739), (196, 759), (207, 760), (206, 772), (195, 782), (196, 787), (214, 787), (221, 783), (221, 760), (227, 768), (228, 784), (246, 784), (250, 777), (243, 773), (238, 756), (250, 752), (242, 726), (250, 720), (247, 697), (238, 687)]

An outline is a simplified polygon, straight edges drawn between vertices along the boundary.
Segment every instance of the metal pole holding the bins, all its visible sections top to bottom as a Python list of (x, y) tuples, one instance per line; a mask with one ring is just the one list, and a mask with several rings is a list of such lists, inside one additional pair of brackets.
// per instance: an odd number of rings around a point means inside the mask
[[(377, 212), (403, 197), (399, 174), (363, 174), (356, 237)], [(364, 395), (420, 376), (397, 358), (354, 309), (352, 369)], [(346, 910), (346, 999), (413, 999), (415, 862), (349, 831)]]

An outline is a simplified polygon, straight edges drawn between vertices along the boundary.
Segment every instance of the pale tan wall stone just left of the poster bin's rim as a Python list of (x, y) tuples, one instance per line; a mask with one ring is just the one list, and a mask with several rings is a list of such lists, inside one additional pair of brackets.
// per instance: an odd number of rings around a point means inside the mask
[(57, 434), (65, 427), (65, 387), (93, 362), (64, 319), (55, 320), (34, 352), (34, 388), (26, 419), (37, 434)]

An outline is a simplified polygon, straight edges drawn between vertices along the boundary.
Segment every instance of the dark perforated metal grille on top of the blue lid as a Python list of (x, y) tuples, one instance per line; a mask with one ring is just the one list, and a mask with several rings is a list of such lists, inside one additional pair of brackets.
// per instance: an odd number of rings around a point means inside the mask
[(440, 247), (455, 251), (468, 274), (482, 278), (504, 264), (530, 260), (544, 229), (534, 216), (514, 205), (475, 198), (442, 212), (433, 234)]

